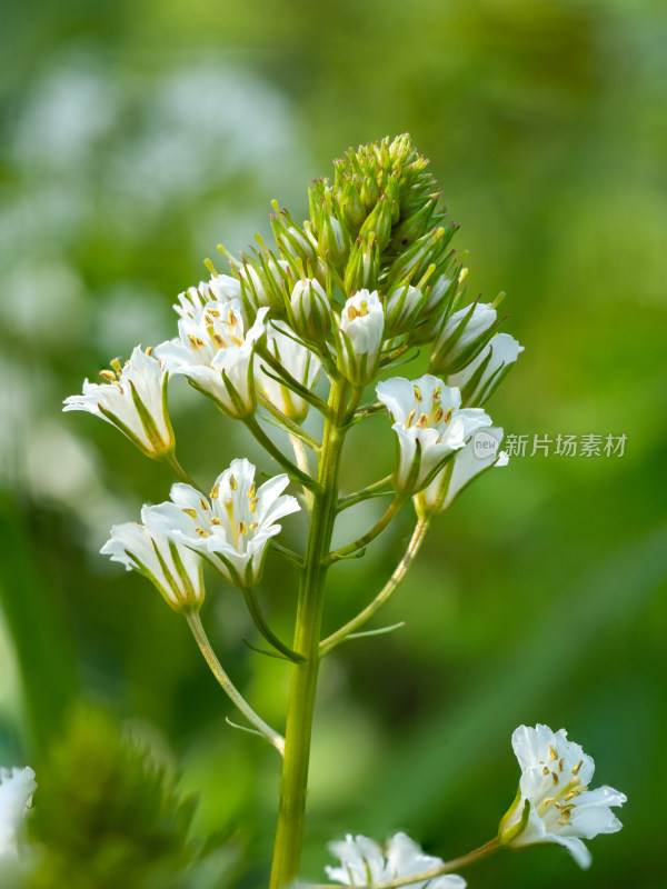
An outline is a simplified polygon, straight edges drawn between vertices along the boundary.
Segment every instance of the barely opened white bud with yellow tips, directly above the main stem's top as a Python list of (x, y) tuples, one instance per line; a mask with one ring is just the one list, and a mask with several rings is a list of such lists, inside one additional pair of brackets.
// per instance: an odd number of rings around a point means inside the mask
[(375, 376), (385, 333), (385, 312), (377, 290), (359, 290), (340, 313), (339, 367), (350, 382), (364, 384)]

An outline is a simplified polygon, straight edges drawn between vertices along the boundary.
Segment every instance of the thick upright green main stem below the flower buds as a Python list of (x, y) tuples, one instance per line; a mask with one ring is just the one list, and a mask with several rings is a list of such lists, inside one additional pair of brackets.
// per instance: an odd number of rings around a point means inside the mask
[(319, 488), (313, 492), (306, 560), (299, 588), (292, 648), (305, 658), (305, 661), (295, 663), (291, 669), (270, 889), (282, 889), (299, 876), (312, 711), (320, 660), (320, 628), (327, 576), (325, 557), (329, 552), (336, 520), (338, 471), (345, 438), (341, 427), (346, 413), (347, 393), (346, 382), (331, 383), (329, 411), (319, 458)]

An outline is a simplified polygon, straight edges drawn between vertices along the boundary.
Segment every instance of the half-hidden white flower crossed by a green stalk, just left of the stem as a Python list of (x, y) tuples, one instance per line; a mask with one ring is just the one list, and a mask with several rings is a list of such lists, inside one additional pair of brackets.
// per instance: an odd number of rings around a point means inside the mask
[[(293, 333), (282, 321), (272, 321), (269, 326), (267, 349), (297, 382), (307, 389), (312, 387), (320, 370), (320, 362), (310, 349), (295, 340)], [(295, 422), (301, 422), (308, 413), (308, 402), (287, 386), (281, 386), (275, 377), (265, 373), (261, 370), (261, 360), (257, 360), (257, 364), (259, 366), (255, 376), (257, 386), (286, 417)]]

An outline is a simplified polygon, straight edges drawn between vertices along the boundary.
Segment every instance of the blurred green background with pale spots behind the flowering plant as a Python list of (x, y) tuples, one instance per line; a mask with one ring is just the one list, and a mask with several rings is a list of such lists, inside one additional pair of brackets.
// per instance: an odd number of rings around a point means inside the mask
[[(267, 885), (275, 751), (225, 723), (236, 715), (182, 619), (97, 555), (171, 479), (60, 402), (113, 356), (173, 336), (176, 294), (218, 242), (267, 232), (271, 198), (303, 219), (308, 179), (405, 131), (461, 226), (469, 292), (506, 290), (505, 329), (526, 347), (495, 421), (530, 442), (627, 442), (623, 457), (527, 456), (486, 476), (376, 625), (407, 627), (328, 659), (303, 875), (322, 878), (345, 831), (406, 829), (444, 858), (487, 840), (516, 791), (511, 731), (544, 721), (628, 795), (624, 830), (591, 843), (589, 872), (530, 849), (469, 885), (667, 886), (667, 8), (26, 0), (3, 6), (0, 41), (0, 763), (38, 771), (30, 886)], [(187, 387), (171, 401), (199, 478), (262, 459)], [(392, 456), (388, 421), (369, 421), (348, 489)], [(364, 529), (374, 510), (350, 520)], [(299, 520), (285, 525), (298, 545)], [(331, 572), (328, 630), (372, 598), (410, 528), (406, 510)], [(275, 557), (262, 597), (288, 637), (295, 578)], [(280, 727), (287, 670), (242, 645), (238, 593), (210, 578), (203, 620)]]

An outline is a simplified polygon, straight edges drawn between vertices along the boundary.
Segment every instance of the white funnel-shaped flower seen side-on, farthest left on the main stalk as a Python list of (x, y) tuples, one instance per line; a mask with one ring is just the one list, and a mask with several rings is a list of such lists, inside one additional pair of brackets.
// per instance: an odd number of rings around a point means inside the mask
[(125, 367), (111, 362), (101, 376), (107, 382), (83, 382), (83, 394), (64, 399), (64, 411), (87, 410), (110, 422), (149, 457), (175, 447), (167, 409), (166, 368), (137, 346)]

